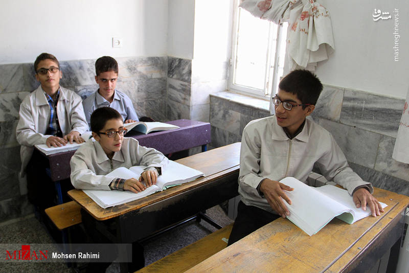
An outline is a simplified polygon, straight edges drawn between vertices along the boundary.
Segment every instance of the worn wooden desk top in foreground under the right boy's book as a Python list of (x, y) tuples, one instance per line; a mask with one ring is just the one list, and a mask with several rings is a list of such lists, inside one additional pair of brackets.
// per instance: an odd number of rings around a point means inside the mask
[(402, 217), (409, 205), (409, 197), (390, 191), (375, 188), (374, 196), (388, 204), (381, 216), (370, 216), (352, 225), (333, 219), (311, 237), (288, 219), (279, 218), (186, 272), (346, 270), (365, 255), (392, 221)]

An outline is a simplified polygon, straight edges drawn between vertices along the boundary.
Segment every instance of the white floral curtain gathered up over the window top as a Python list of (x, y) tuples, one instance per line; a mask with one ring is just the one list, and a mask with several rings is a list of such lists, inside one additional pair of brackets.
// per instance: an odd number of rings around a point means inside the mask
[(241, 0), (240, 7), (276, 24), (288, 21), (284, 74), (300, 67), (313, 71), (334, 51), (331, 17), (315, 0)]

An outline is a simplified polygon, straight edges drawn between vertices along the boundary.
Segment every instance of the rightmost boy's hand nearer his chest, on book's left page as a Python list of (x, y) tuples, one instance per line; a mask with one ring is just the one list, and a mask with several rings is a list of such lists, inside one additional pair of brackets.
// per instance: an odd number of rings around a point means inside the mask
[(268, 178), (264, 179), (260, 185), (260, 191), (264, 193), (264, 196), (270, 204), (270, 207), (275, 212), (280, 214), (283, 218), (285, 218), (287, 215), (290, 215), (290, 212), (285, 206), (283, 199), (288, 204), (291, 204), (291, 200), (283, 190), (292, 191), (294, 189), (280, 183), (279, 181), (274, 181)]

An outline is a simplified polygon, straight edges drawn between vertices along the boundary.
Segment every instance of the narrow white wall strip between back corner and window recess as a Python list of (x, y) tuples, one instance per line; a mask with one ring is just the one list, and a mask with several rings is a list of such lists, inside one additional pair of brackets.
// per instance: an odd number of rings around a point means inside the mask
[(168, 56), (193, 59), (194, 20), (194, 0), (169, 0)]

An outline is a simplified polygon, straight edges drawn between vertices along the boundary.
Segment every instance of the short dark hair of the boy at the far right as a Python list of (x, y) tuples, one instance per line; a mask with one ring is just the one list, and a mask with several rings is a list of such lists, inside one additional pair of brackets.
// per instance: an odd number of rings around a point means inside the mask
[[(287, 74), (278, 87), (288, 93), (297, 95), (302, 104), (315, 105), (320, 97), (323, 85), (320, 79), (311, 71), (294, 70)], [(306, 106), (303, 106), (305, 109)]]

